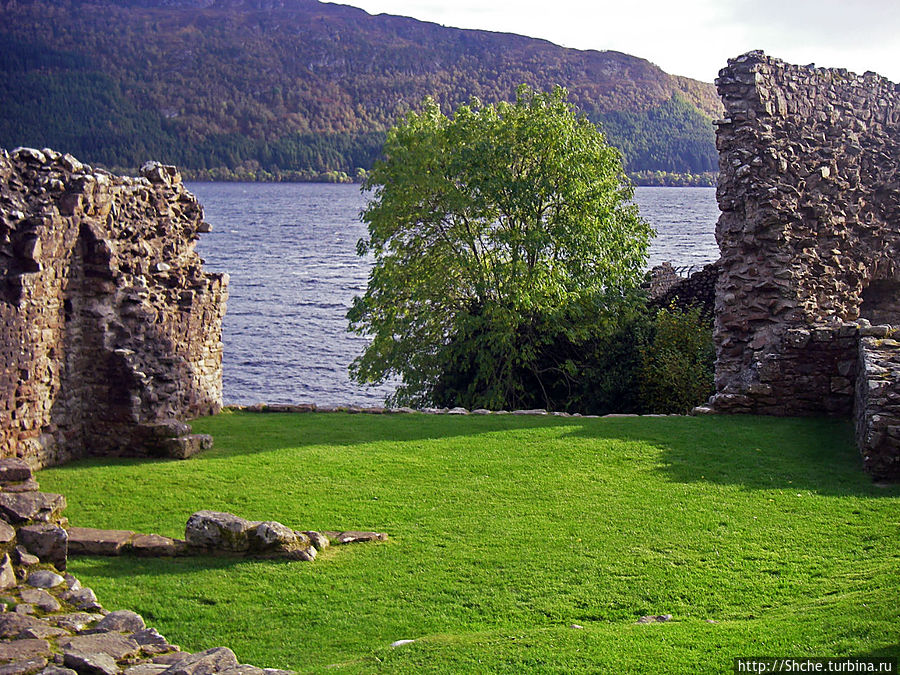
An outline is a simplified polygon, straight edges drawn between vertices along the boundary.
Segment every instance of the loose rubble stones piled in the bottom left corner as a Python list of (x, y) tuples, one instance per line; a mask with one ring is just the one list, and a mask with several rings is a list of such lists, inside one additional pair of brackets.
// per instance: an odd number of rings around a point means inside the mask
[[(12, 494), (30, 495), (31, 503), (52, 508), (18, 509), (14, 517), (0, 513), (0, 674), (288, 675), (290, 671), (242, 665), (226, 647), (183, 652), (147, 628), (135, 612), (105, 610), (91, 589), (71, 574), (59, 573), (65, 569), (68, 543), (57, 531), (66, 531), (65, 499), (38, 492), (22, 460), (0, 459), (0, 496), (22, 484), (33, 485), (33, 493)], [(24, 539), (23, 532), (28, 532)], [(305, 541), (311, 539), (305, 536)], [(35, 558), (31, 565), (17, 562), (26, 555), (19, 552), (25, 546)], [(46, 550), (58, 558), (59, 547), (61, 567), (34, 555)]]

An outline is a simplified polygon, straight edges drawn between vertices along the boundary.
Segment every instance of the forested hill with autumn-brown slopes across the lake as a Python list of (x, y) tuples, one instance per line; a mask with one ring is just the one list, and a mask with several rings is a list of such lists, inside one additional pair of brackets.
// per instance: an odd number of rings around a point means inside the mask
[(521, 83), (568, 88), (631, 171), (717, 168), (713, 86), (618, 52), (316, 0), (0, 0), (0, 147), (108, 166), (353, 175), (423, 97)]

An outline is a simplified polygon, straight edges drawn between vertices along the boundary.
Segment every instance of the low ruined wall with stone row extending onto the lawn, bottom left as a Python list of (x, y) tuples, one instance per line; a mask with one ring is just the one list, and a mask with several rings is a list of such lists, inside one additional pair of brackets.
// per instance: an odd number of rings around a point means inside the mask
[(90, 588), (65, 573), (69, 554), (313, 560), (329, 544), (387, 539), (377, 532), (295, 532), (274, 521), (200, 511), (179, 545), (159, 535), (70, 528), (65, 507), (62, 495), (40, 492), (24, 461), (0, 459), (0, 673), (290, 675), (242, 665), (227, 647), (183, 652), (135, 612), (108, 612)]

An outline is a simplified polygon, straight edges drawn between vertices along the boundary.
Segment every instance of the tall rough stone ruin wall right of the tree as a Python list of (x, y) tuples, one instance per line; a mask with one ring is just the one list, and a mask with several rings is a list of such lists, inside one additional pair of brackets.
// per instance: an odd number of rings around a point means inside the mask
[(717, 86), (711, 406), (855, 414), (867, 469), (900, 478), (900, 382), (885, 375), (900, 354), (900, 87), (761, 52)]

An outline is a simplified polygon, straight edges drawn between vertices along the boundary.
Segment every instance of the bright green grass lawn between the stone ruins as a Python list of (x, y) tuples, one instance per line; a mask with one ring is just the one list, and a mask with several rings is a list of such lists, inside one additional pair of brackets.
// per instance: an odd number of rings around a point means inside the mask
[[(189, 461), (38, 479), (78, 526), (180, 537), (214, 509), (390, 540), (313, 563), (71, 561), (106, 607), (185, 649), (329, 673), (900, 654), (900, 488), (872, 485), (845, 422), (223, 414), (194, 428), (216, 447)], [(645, 614), (674, 618), (636, 625)]]

